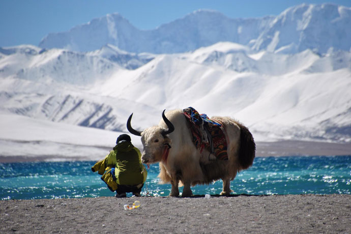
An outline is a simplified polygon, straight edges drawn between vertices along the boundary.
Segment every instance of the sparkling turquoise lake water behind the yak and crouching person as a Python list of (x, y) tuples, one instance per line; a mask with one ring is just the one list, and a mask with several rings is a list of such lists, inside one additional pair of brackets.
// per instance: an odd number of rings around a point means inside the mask
[[(0, 199), (55, 199), (113, 196), (93, 173), (93, 161), (0, 163)], [(148, 169), (141, 195), (168, 196), (158, 164)], [(231, 182), (233, 194), (351, 194), (351, 156), (255, 158)], [(180, 188), (182, 192), (183, 188)], [(194, 195), (219, 194), (222, 181), (192, 187)], [(131, 194), (128, 194), (131, 196)]]

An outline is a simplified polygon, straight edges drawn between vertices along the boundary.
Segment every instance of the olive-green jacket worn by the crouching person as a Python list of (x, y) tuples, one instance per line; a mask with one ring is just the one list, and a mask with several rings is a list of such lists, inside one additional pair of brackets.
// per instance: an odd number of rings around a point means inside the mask
[(105, 159), (92, 167), (92, 170), (104, 174), (109, 167), (115, 167), (115, 182), (119, 185), (138, 185), (147, 179), (148, 172), (141, 163), (140, 151), (129, 141), (117, 144)]

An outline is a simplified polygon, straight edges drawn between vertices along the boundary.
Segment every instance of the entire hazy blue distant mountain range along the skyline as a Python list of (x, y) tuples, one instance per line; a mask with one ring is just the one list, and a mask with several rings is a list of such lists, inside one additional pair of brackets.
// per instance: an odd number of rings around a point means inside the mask
[(295, 53), (306, 49), (326, 53), (330, 47), (351, 48), (351, 8), (333, 4), (299, 5), (278, 16), (231, 19), (210, 10), (195, 11), (154, 30), (138, 30), (120, 14), (51, 33), (42, 48), (97, 50), (106, 44), (130, 52), (178, 53), (221, 41), (247, 45), (254, 50)]

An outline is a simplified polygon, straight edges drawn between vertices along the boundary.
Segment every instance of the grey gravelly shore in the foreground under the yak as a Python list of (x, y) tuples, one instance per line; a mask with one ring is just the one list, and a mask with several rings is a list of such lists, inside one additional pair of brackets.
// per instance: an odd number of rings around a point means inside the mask
[[(135, 200), (141, 206), (124, 210)], [(2, 233), (351, 233), (351, 195), (0, 201)]]

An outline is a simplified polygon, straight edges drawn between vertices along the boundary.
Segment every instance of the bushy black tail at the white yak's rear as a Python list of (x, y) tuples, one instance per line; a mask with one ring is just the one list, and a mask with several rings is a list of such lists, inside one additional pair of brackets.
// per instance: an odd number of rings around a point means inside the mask
[(241, 123), (237, 124), (240, 127), (239, 162), (242, 169), (247, 169), (255, 158), (256, 144), (249, 129)]

